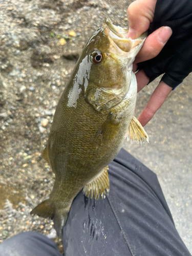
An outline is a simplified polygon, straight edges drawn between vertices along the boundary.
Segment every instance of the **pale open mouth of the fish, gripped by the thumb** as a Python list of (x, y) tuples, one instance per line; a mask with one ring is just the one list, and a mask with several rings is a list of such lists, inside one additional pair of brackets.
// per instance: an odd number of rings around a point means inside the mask
[(145, 32), (137, 39), (127, 38), (129, 30), (113, 25), (108, 17), (104, 20), (103, 29), (110, 40), (110, 51), (121, 57), (135, 57), (147, 36)]

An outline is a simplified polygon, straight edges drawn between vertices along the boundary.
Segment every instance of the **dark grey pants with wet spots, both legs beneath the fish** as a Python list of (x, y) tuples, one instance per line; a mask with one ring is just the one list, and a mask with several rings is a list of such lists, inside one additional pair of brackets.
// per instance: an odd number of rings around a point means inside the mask
[[(121, 150), (109, 165), (110, 195), (91, 200), (80, 192), (63, 228), (65, 256), (189, 256), (156, 175)], [(0, 256), (61, 255), (36, 232), (0, 245)]]

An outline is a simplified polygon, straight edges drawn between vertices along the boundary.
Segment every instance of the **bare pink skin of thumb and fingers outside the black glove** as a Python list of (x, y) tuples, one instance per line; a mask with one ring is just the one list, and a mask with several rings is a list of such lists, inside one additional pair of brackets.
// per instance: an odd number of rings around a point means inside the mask
[[(135, 39), (148, 30), (150, 23), (153, 22), (156, 2), (157, 0), (145, 0), (144, 2), (137, 0), (129, 6), (127, 12), (130, 20), (130, 29), (127, 37)], [(137, 70), (136, 63), (156, 57), (171, 35), (172, 30), (169, 27), (161, 27), (150, 34), (133, 63), (133, 71)], [(136, 78), (139, 92), (150, 81), (150, 78), (146, 76), (143, 70), (137, 72)], [(166, 83), (163, 81), (159, 83), (138, 118), (142, 126), (152, 119), (170, 91), (172, 91), (172, 88)]]

